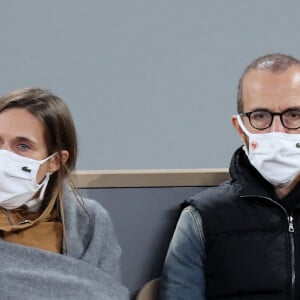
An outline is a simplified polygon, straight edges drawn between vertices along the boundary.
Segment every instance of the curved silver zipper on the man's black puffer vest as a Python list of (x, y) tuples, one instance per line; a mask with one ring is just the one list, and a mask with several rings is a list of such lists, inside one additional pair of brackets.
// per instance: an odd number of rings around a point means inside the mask
[(265, 199), (265, 200), (271, 201), (272, 203), (274, 203), (275, 205), (277, 205), (284, 211), (284, 213), (287, 217), (287, 222), (288, 222), (288, 233), (289, 233), (289, 240), (290, 240), (290, 247), (291, 247), (291, 299), (294, 300), (295, 299), (296, 274), (295, 274), (295, 241), (294, 241), (295, 227), (294, 227), (293, 215), (292, 214), (289, 215), (287, 210), (280, 203), (274, 201), (271, 198), (258, 196), (258, 195), (244, 195), (244, 196), (240, 196), (240, 197), (241, 198), (255, 197), (255, 198)]

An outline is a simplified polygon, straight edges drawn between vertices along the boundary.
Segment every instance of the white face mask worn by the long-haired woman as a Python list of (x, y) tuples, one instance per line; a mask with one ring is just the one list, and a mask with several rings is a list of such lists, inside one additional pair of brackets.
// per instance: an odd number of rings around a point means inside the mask
[[(54, 154), (53, 154), (54, 155)], [(34, 160), (7, 150), (0, 150), (0, 206), (15, 209), (22, 206), (40, 191), (39, 198), (44, 196), (50, 173), (38, 184), (37, 173), (41, 164), (53, 155)]]

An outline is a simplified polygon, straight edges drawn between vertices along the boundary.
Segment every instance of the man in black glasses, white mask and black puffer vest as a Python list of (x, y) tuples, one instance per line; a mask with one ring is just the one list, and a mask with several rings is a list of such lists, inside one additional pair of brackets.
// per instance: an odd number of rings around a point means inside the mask
[(232, 180), (191, 198), (166, 256), (163, 300), (300, 299), (300, 61), (254, 60), (232, 124)]

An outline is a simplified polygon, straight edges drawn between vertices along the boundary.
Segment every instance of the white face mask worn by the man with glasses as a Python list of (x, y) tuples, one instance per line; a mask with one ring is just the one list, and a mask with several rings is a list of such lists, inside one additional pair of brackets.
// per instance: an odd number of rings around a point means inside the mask
[(238, 123), (249, 138), (244, 146), (250, 163), (274, 186), (292, 182), (300, 173), (300, 134), (283, 132), (250, 133), (240, 116)]

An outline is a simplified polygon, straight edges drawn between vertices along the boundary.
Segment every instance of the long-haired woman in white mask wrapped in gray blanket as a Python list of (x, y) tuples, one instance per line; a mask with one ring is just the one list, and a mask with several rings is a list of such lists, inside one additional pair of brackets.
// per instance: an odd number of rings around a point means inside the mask
[(107, 212), (72, 185), (76, 131), (47, 90), (0, 97), (1, 298), (128, 299)]

